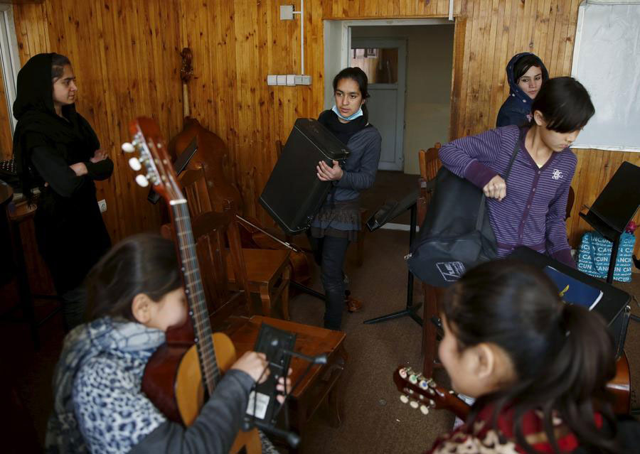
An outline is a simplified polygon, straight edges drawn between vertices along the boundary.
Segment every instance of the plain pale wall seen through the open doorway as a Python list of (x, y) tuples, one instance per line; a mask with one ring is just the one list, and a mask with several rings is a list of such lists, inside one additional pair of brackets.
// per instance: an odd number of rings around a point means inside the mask
[(417, 152), (449, 140), (454, 26), (354, 26), (352, 38), (406, 38), (405, 173), (419, 174)]

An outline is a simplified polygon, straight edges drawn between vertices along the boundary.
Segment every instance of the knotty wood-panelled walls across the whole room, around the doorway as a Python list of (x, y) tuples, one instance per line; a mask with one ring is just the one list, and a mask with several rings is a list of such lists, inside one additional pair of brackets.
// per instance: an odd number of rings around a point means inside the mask
[[(80, 83), (80, 112), (87, 114), (118, 158), (117, 145), (127, 135), (125, 124), (136, 114), (156, 117), (167, 136), (178, 131), (177, 51), (188, 45), (195, 71), (189, 87), (191, 113), (228, 144), (247, 211), (267, 222), (257, 197), (276, 161), (275, 143), (287, 139), (297, 117), (315, 117), (324, 105), (323, 19), (442, 18), (449, 12), (449, 0), (306, 0), (305, 72), (313, 82), (308, 87), (269, 87), (267, 74), (299, 73), (299, 16), (279, 20), (280, 4), (295, 4), (298, 10), (299, 1), (70, 3), (47, 0), (14, 7), (21, 58), (53, 48), (70, 55)], [(454, 1), (452, 138), (494, 126), (508, 94), (504, 68), (514, 53), (538, 54), (552, 77), (570, 74), (579, 4), (580, 0)], [(622, 161), (640, 164), (640, 154), (575, 152), (576, 201), (567, 227), (577, 245), (588, 227), (577, 215), (579, 208), (594, 200)], [(100, 188), (107, 202), (114, 198), (107, 225), (116, 239), (158, 222), (131, 177), (119, 159), (114, 177)]]

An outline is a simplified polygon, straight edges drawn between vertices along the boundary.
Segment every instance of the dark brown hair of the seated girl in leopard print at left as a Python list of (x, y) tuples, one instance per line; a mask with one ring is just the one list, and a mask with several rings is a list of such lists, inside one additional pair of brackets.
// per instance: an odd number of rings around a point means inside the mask
[(157, 234), (123, 239), (87, 276), (91, 318), (109, 315), (136, 321), (131, 303), (138, 293), (159, 301), (182, 285), (174, 243)]

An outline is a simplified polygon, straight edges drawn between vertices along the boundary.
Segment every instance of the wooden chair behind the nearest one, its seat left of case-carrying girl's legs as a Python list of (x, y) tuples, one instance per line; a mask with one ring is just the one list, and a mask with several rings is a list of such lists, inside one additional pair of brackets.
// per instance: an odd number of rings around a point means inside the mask
[[(201, 167), (184, 171), (178, 178), (188, 200), (189, 213), (193, 220), (215, 208), (209, 197), (205, 167), (206, 164), (203, 164)], [(238, 228), (237, 225), (236, 228)], [(279, 298), (282, 302), (282, 315), (289, 320), (289, 281), (291, 280), (289, 254), (289, 250), (286, 249), (242, 249), (249, 290), (260, 295), (262, 315), (267, 317), (271, 316), (271, 309)], [(230, 259), (227, 259), (226, 266), (225, 276), (231, 283), (236, 284)]]

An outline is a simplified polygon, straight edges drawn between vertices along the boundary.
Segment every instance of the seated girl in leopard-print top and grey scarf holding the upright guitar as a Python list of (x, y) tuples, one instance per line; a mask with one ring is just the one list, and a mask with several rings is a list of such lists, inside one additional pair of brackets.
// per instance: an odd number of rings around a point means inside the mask
[(65, 339), (46, 452), (228, 453), (250, 389), (269, 374), (265, 355), (240, 357), (188, 428), (169, 421), (141, 391), (146, 362), (167, 328), (187, 317), (174, 243), (152, 234), (124, 239), (92, 269), (87, 290), (93, 320)]

